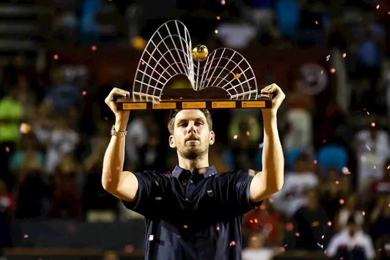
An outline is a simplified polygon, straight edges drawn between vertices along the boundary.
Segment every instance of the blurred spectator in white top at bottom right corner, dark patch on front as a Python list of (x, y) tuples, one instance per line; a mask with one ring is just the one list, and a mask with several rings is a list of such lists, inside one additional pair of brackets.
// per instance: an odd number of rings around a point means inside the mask
[(333, 259), (372, 260), (375, 257), (375, 249), (370, 235), (363, 232), (353, 217), (350, 217), (347, 227), (330, 240), (326, 255)]

